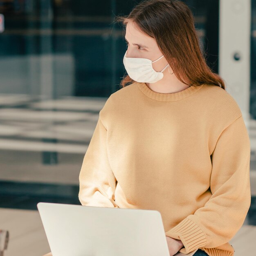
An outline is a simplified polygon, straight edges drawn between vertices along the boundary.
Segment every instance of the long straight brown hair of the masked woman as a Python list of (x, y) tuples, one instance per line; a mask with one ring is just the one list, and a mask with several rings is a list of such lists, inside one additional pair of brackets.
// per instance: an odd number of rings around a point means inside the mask
[[(128, 16), (117, 16), (124, 27), (128, 21), (155, 38), (174, 74), (186, 85), (213, 84), (226, 90), (222, 78), (214, 73), (200, 50), (193, 13), (179, 0), (144, 0)], [(135, 81), (126, 75), (121, 87)], [(187, 83), (186, 83), (187, 82)]]

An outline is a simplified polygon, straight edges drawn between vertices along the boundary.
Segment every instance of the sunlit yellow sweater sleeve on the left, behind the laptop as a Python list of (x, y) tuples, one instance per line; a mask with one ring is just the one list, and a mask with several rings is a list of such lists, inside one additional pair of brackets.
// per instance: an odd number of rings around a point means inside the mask
[(79, 201), (86, 206), (119, 208), (114, 196), (117, 180), (108, 162), (106, 138), (100, 111), (79, 174)]

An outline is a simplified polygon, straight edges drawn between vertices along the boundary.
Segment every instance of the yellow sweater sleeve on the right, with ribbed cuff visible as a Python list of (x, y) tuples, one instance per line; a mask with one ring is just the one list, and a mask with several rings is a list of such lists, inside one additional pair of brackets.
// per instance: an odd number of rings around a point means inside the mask
[(165, 232), (182, 241), (184, 254), (228, 243), (246, 218), (251, 204), (250, 141), (242, 115), (221, 132), (211, 163), (211, 198)]

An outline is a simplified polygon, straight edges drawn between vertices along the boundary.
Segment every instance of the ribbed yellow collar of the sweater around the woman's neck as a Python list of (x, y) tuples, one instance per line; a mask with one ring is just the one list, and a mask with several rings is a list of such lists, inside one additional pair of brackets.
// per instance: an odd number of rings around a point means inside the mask
[(193, 93), (200, 90), (204, 85), (191, 85), (189, 88), (186, 88), (180, 92), (173, 92), (173, 93), (161, 93), (161, 92), (155, 92), (151, 90), (146, 83), (137, 83), (139, 89), (141, 92), (143, 92), (147, 97), (151, 99), (155, 99), (157, 101), (177, 101), (180, 99), (184, 99), (186, 97), (189, 97)]

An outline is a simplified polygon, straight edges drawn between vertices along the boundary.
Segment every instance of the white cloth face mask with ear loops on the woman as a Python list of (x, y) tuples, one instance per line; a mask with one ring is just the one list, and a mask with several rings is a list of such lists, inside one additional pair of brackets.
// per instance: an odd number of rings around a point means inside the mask
[(152, 63), (158, 61), (160, 58), (163, 58), (164, 55), (155, 61), (151, 61), (148, 58), (127, 58), (126, 54), (127, 50), (123, 58), (124, 67), (130, 78), (134, 81), (139, 83), (155, 83), (164, 77), (162, 72), (168, 67), (169, 64), (167, 64), (160, 72), (155, 71), (152, 66)]

